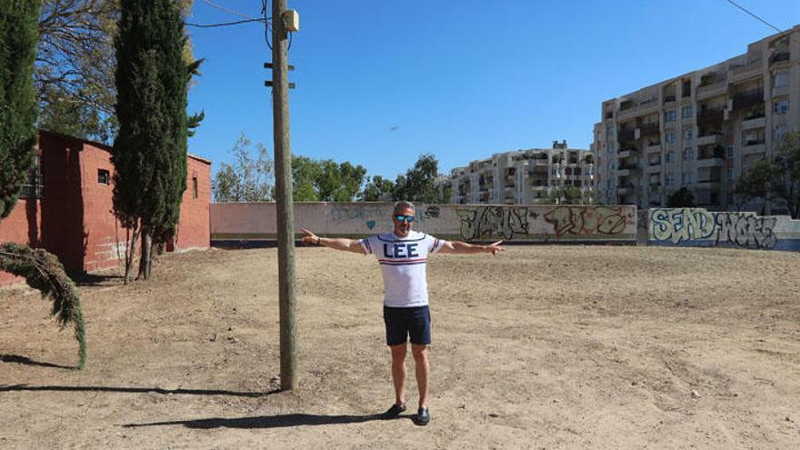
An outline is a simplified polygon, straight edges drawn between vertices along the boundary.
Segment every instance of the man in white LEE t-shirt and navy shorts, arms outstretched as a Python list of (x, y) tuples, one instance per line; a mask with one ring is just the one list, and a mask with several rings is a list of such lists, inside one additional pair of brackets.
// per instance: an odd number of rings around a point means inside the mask
[(419, 409), (414, 420), (417, 425), (427, 425), (431, 420), (426, 403), (430, 374), (427, 345), (431, 343), (431, 315), (425, 279), (427, 256), (438, 252), (497, 255), (505, 248), (500, 246), (502, 241), (492, 245), (471, 245), (460, 241), (439, 240), (432, 235), (412, 231), (414, 218), (414, 204), (397, 202), (392, 214), (392, 222), (395, 224), (392, 233), (354, 240), (319, 237), (305, 228), (301, 230), (305, 245), (322, 245), (377, 257), (384, 277), (386, 344), (392, 349), (392, 380), (395, 382), (395, 405), (386, 411), (385, 416), (394, 417), (406, 409), (405, 354), (406, 341), (410, 336), (416, 385), (419, 388)]

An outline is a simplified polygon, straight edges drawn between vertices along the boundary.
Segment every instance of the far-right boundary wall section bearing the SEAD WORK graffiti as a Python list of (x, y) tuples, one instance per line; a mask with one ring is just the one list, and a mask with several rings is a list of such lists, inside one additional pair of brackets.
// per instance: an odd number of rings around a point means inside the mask
[(640, 225), (643, 219), (649, 245), (800, 251), (800, 220), (788, 215), (651, 208), (640, 211)]

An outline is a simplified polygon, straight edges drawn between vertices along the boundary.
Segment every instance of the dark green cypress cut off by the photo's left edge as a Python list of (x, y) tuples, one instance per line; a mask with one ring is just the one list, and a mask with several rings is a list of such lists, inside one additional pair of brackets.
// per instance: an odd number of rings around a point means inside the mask
[(40, 2), (0, 2), (0, 219), (14, 209), (34, 161), (34, 60)]

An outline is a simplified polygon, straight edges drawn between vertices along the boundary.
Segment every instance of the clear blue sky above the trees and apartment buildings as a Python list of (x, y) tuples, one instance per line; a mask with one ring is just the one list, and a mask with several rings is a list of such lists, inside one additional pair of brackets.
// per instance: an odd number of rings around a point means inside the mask
[[(259, 0), (215, 0), (258, 16)], [(737, 0), (785, 29), (798, 0)], [(271, 2), (270, 2), (271, 4)], [(493, 153), (588, 148), (601, 102), (745, 53), (775, 33), (725, 0), (288, 0), (292, 152), (392, 179)], [(195, 0), (189, 22), (240, 19)], [(205, 121), (189, 151), (215, 168), (242, 133), (272, 152), (271, 59), (258, 23), (187, 28), (206, 59), (189, 95)], [(393, 128), (396, 129), (393, 130)]]

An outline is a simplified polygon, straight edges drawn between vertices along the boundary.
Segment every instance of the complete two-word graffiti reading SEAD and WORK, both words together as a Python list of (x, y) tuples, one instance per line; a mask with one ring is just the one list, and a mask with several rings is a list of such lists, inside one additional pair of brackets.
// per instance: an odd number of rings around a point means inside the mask
[(651, 209), (651, 237), (671, 244), (706, 240), (712, 245), (775, 248), (775, 217), (711, 213), (699, 208)]

